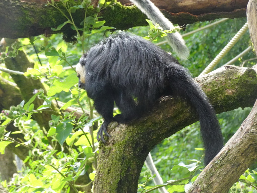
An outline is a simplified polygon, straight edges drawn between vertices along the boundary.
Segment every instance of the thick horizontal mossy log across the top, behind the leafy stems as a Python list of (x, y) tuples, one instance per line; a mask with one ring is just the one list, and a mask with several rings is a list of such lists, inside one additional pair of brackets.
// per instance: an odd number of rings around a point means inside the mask
[[(97, 2), (97, 0), (92, 1), (94, 5), (97, 5)], [(152, 2), (162, 10), (170, 21), (182, 26), (197, 21), (210, 21), (223, 17), (245, 17), (248, 0), (152, 0)], [(107, 7), (101, 15), (106, 21), (105, 25), (122, 30), (147, 25), (145, 21), (146, 16), (135, 6), (124, 6), (128, 5), (127, 3), (130, 2), (128, 0), (122, 0), (121, 3), (116, 3), (114, 10)], [(16, 39), (53, 33), (51, 27), (56, 28), (58, 25), (67, 21), (67, 19), (53, 7), (45, 6), (46, 4), (46, 0), (1, 1), (0, 37)], [(71, 7), (80, 4), (80, 1), (71, 0), (69, 4)], [(60, 8), (66, 13), (64, 7), (60, 5)], [(77, 10), (73, 14), (73, 17), (76, 25), (79, 26), (82, 20), (81, 18), (84, 18), (84, 10)], [(71, 30), (69, 25), (63, 27), (58, 33), (60, 32), (64, 33), (67, 37), (76, 35), (75, 31)]]

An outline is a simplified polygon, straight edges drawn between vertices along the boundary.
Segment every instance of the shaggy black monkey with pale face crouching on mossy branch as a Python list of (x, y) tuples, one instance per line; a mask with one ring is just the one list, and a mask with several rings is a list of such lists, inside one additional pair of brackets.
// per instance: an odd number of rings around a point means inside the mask
[[(206, 165), (223, 147), (220, 126), (205, 93), (186, 68), (153, 43), (130, 33), (115, 34), (92, 47), (80, 65), (86, 72), (79, 87), (87, 90), (104, 118), (98, 141), (105, 142), (103, 132), (110, 137), (106, 127), (111, 121), (128, 123), (151, 110), (159, 97), (172, 94), (186, 100), (199, 115)], [(122, 112), (115, 117), (114, 102)]]

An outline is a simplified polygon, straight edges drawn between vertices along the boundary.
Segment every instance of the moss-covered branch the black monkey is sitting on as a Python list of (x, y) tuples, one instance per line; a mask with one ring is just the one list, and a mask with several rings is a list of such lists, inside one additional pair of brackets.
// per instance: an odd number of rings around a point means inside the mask
[[(195, 80), (206, 92), (216, 112), (221, 113), (253, 106), (257, 95), (254, 86), (257, 83), (256, 71), (257, 65), (253, 68), (224, 66)], [(112, 137), (106, 145), (99, 146), (94, 192), (136, 192), (150, 150), (164, 138), (197, 120), (196, 113), (186, 103), (164, 97), (151, 112), (129, 125), (111, 123), (108, 133)]]

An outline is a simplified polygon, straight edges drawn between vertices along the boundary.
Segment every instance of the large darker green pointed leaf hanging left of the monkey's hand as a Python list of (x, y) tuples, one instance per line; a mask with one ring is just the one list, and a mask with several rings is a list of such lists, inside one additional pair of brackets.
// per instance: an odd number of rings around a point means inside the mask
[(70, 123), (61, 123), (56, 127), (56, 139), (62, 145), (65, 139), (70, 135), (73, 125)]

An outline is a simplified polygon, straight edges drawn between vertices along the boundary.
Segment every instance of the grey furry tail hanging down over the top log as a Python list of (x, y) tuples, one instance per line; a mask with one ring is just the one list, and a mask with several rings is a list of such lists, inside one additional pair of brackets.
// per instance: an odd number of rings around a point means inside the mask
[[(153, 23), (158, 23), (163, 30), (173, 29), (173, 24), (161, 13), (150, 0), (130, 0), (134, 3)], [(179, 32), (167, 33), (167, 40), (172, 49), (181, 59), (187, 59), (189, 50)]]

